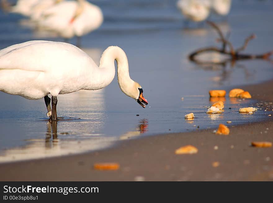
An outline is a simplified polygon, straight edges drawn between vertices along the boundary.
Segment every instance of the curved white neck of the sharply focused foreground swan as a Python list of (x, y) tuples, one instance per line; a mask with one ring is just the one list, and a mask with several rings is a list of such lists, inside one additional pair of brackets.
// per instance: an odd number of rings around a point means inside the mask
[(115, 76), (115, 64), (117, 61), (118, 67), (118, 82), (119, 87), (124, 94), (131, 96), (130, 92), (134, 86), (134, 81), (129, 75), (128, 59), (125, 52), (118, 46), (109, 46), (101, 55), (101, 61), (99, 68), (105, 72), (104, 86), (107, 86), (112, 82)]

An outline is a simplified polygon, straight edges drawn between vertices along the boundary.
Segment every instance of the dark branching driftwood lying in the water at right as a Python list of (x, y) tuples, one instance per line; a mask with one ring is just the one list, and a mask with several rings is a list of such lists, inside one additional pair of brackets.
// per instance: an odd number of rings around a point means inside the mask
[[(215, 46), (210, 46), (210, 47), (200, 48), (200, 49), (192, 52), (189, 55), (189, 59), (191, 61), (197, 63), (197, 64), (206, 64), (207, 63), (207, 62), (202, 62), (202, 61), (196, 59), (197, 55), (199, 55), (201, 53), (207, 53), (207, 52), (213, 52), (213, 51), (221, 53), (223, 55), (230, 56), (229, 61), (232, 61), (233, 63), (236, 60), (247, 60), (247, 59), (269, 60), (269, 57), (273, 54), (273, 51), (269, 51), (269, 52), (266, 52), (266, 53), (263, 53), (263, 54), (257, 54), (257, 55), (254, 55), (254, 54), (242, 54), (241, 51), (245, 50), (245, 48), (248, 45), (248, 42), (256, 37), (254, 34), (252, 34), (248, 38), (246, 38), (245, 41), (244, 41), (244, 44), (241, 47), (239, 47), (237, 49), (234, 49), (234, 46), (232, 45), (232, 43), (230, 41), (228, 41), (228, 37), (229, 37), (230, 33), (228, 33), (227, 36), (224, 37), (221, 29), (215, 23), (213, 23), (211, 21), (208, 21), (207, 23), (209, 25), (211, 25), (217, 31), (217, 33), (219, 35), (219, 39), (217, 39), (217, 42), (222, 42), (222, 47), (219, 48), (219, 47), (215, 47)], [(224, 61), (222, 63), (213, 63), (213, 62), (210, 62), (210, 64), (223, 64), (223, 63), (226, 63), (226, 62), (227, 61)]]

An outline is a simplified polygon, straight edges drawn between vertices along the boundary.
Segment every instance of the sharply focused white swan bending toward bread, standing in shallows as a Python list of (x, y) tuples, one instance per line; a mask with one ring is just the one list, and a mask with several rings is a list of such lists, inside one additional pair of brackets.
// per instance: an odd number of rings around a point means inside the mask
[(29, 41), (9, 46), (0, 51), (0, 91), (33, 100), (44, 97), (47, 115), (57, 120), (57, 96), (109, 85), (115, 76), (114, 60), (120, 89), (145, 108), (148, 102), (142, 87), (130, 78), (127, 56), (118, 46), (103, 52), (99, 67), (84, 51), (65, 42)]

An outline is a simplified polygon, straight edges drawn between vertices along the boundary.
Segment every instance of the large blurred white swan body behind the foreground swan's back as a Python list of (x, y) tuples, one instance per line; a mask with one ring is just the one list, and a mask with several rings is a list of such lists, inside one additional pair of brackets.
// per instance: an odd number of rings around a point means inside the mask
[(101, 9), (85, 0), (64, 1), (43, 11), (39, 26), (63, 38), (81, 37), (101, 26)]

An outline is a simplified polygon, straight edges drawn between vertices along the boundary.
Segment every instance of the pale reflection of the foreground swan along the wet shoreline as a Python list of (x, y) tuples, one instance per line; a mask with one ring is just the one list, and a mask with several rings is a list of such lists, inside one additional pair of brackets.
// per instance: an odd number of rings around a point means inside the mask
[[(67, 122), (69, 121), (73, 120), (68, 119)], [(119, 138), (90, 135), (87, 139), (75, 139), (69, 132), (64, 131), (63, 127), (66, 126), (64, 122), (66, 121), (47, 121), (45, 139), (27, 139), (25, 141), (29, 144), (24, 147), (16, 147), (2, 151), (0, 154), (0, 162), (31, 160), (95, 151), (108, 148), (119, 139), (128, 139), (148, 131), (148, 120), (142, 119), (139, 121), (135, 131), (128, 131)], [(61, 126), (59, 131), (58, 125)], [(84, 125), (90, 124), (85, 123)], [(80, 124), (79, 127), (81, 126), (83, 125)]]

